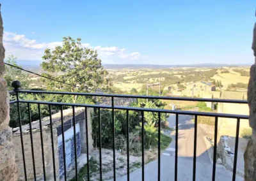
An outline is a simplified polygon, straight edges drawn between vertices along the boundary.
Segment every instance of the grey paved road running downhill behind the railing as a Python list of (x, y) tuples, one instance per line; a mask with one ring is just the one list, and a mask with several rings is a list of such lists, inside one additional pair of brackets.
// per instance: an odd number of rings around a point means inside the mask
[[(192, 116), (179, 115), (179, 141), (178, 141), (178, 180), (192, 180), (193, 178), (193, 143), (194, 124)], [(168, 118), (170, 127), (175, 128), (175, 115)], [(207, 156), (204, 142), (204, 131), (198, 126), (197, 152), (196, 152), (196, 180), (212, 179), (212, 164)], [(174, 137), (174, 136), (173, 136)], [(175, 137), (169, 148), (161, 155), (161, 180), (174, 180), (175, 168)], [(158, 160), (145, 165), (145, 180), (157, 180)], [(116, 180), (127, 180), (127, 175)], [(141, 168), (130, 174), (130, 180), (141, 180)], [(232, 172), (223, 166), (216, 165), (216, 180), (232, 180)], [(237, 176), (236, 180), (243, 181)]]

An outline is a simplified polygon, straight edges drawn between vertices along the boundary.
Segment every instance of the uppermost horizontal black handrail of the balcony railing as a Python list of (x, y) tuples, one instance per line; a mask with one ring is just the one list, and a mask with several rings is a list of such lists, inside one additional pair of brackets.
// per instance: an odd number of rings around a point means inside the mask
[[(10, 91), (10, 94), (16, 91)], [(176, 101), (200, 101), (212, 103), (237, 103), (247, 104), (246, 100), (234, 99), (209, 99), (209, 98), (181, 98), (181, 97), (168, 97), (168, 96), (141, 96), (141, 95), (128, 95), (128, 94), (99, 94), (99, 93), (82, 93), (82, 92), (54, 92), (54, 91), (17, 91), (20, 93), (29, 94), (62, 94), (62, 95), (76, 95), (76, 96), (101, 96), (101, 97), (114, 97), (114, 98), (137, 98), (137, 99), (164, 99)]]

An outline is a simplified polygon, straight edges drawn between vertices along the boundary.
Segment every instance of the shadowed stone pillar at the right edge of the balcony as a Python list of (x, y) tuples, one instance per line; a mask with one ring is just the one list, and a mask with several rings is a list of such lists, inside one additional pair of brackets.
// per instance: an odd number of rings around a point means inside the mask
[(248, 104), (250, 108), (249, 124), (252, 127), (252, 138), (248, 141), (244, 152), (244, 180), (255, 181), (256, 179), (256, 23), (253, 29), (253, 54), (255, 63), (250, 69), (248, 85)]

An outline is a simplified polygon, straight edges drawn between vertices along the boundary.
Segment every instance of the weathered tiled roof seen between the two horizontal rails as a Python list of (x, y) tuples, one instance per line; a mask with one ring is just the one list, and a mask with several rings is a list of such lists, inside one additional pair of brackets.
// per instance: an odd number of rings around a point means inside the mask
[[(102, 106), (111, 106), (112, 101), (109, 97), (101, 97), (95, 98), (96, 105)], [(114, 105), (115, 106), (130, 106), (132, 103), (136, 103), (137, 99), (135, 98), (114, 98)]]

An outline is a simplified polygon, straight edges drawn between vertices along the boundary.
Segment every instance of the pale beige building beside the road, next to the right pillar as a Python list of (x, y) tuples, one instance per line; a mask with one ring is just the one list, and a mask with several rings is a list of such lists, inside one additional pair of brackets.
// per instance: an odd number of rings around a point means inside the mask
[[(247, 95), (246, 92), (230, 92), (223, 91), (221, 94), (221, 99), (238, 99), (238, 100), (246, 100)], [(249, 107), (247, 104), (233, 104), (233, 103), (218, 103), (218, 113), (230, 113), (237, 115), (249, 115)], [(236, 135), (236, 119), (228, 119), (228, 118), (218, 118), (218, 130), (221, 135)], [(240, 122), (240, 130), (242, 131), (245, 128), (249, 127), (248, 120), (241, 120)]]

